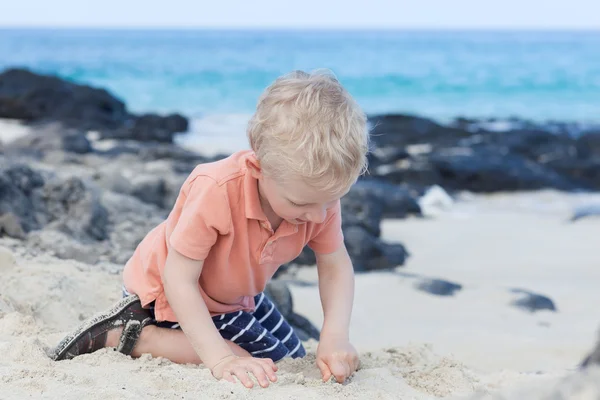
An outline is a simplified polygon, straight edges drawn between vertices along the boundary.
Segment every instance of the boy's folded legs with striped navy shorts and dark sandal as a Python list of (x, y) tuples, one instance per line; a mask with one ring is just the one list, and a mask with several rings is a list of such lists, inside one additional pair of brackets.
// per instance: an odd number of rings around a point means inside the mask
[[(256, 296), (255, 301), (257, 307), (253, 314), (239, 311), (213, 317), (215, 326), (234, 354), (274, 361), (288, 355), (303, 357), (306, 351), (302, 342), (275, 305), (264, 294)], [(155, 326), (152, 310), (143, 309), (137, 296), (126, 297), (118, 307), (101, 317), (91, 319), (74, 335), (65, 338), (57, 346), (53, 358), (69, 359), (104, 347), (117, 347), (133, 357), (151, 354), (175, 363), (201, 363), (187, 336), (181, 329), (173, 329), (178, 324)], [(158, 323), (161, 324), (164, 325)], [(132, 329), (123, 334), (128, 328)]]

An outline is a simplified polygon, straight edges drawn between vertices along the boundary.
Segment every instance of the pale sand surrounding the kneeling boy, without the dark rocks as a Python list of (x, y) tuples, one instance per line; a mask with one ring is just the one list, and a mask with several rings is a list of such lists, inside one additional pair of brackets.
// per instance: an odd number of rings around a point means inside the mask
[[(110, 351), (54, 363), (45, 351), (78, 320), (116, 301), (119, 276), (0, 251), (0, 399), (556, 395), (555, 385), (574, 371), (600, 327), (594, 236), (600, 218), (565, 222), (575, 203), (592, 200), (600, 199), (495, 195), (456, 204), (431, 220), (386, 221), (386, 239), (403, 242), (413, 255), (397, 271), (357, 276), (351, 335), (362, 368), (345, 385), (320, 382), (314, 343), (306, 359), (280, 364), (279, 382), (266, 390), (217, 382), (203, 367)], [(320, 324), (315, 269), (301, 269), (298, 277), (308, 284), (292, 287), (296, 310)], [(463, 289), (453, 297), (433, 296), (413, 287), (418, 277), (447, 279)], [(549, 296), (558, 312), (530, 314), (510, 306), (512, 287)], [(585, 383), (564, 383), (570, 394), (553, 398), (598, 398), (600, 388), (590, 382), (599, 377), (598, 371), (595, 378), (575, 377)], [(573, 387), (583, 394), (574, 395)]]

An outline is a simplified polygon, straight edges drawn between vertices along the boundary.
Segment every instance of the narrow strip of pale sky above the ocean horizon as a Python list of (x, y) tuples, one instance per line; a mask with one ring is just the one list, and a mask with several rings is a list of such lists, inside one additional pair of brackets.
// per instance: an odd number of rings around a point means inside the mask
[(0, 0), (0, 26), (600, 29), (600, 0)]

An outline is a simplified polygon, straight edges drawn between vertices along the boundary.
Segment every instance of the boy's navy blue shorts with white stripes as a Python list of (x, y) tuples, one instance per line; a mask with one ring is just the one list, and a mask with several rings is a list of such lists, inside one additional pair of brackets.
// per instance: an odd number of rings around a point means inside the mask
[[(123, 297), (130, 294), (123, 288)], [(254, 297), (254, 312), (235, 311), (212, 317), (215, 327), (223, 337), (246, 350), (253, 357), (270, 358), (277, 362), (285, 357), (299, 358), (306, 350), (292, 326), (283, 318), (275, 304), (264, 293)], [(154, 303), (150, 304), (154, 315)], [(179, 329), (179, 324), (154, 321), (161, 328)]]

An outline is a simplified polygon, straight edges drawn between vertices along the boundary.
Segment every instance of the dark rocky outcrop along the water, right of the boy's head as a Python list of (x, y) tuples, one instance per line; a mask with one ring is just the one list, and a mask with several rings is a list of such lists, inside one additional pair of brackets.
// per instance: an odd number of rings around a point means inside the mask
[(600, 190), (594, 127), (512, 121), (497, 131), (482, 122), (441, 125), (406, 115), (371, 121), (370, 174), (388, 182), (473, 192)]

